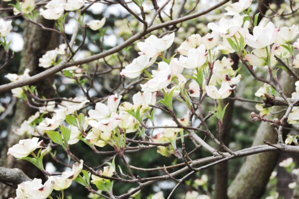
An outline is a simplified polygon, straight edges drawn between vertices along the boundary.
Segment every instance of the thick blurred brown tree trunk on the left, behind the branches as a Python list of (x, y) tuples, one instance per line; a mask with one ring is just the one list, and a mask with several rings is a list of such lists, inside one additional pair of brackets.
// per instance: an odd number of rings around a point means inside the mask
[[(53, 27), (53, 21), (46, 19), (39, 19), (39, 22), (47, 27)], [(53, 49), (58, 44), (58, 35), (49, 31), (44, 31), (40, 27), (32, 24), (25, 23), (24, 33), (24, 46), (21, 53), (21, 60), (19, 66), (19, 73), (22, 74), (27, 68), (30, 70), (30, 75), (37, 74), (43, 70), (38, 66), (38, 59), (49, 49)], [(49, 77), (36, 84), (39, 96), (50, 97), (53, 92), (51, 85), (53, 78)], [(6, 145), (1, 151), (0, 166), (6, 168), (19, 168), (24, 171), (30, 178), (36, 177), (39, 172), (30, 163), (25, 161), (17, 161), (13, 156), (6, 155), (7, 149), (12, 145), (18, 143), (24, 136), (19, 136), (13, 133), (12, 129), (18, 128), (20, 124), (29, 116), (34, 114), (37, 110), (30, 108), (26, 101), (17, 100), (14, 110), (14, 118), (11, 124), (11, 129), (6, 137)], [(6, 199), (15, 195), (14, 190), (10, 187), (0, 184), (0, 199)]]

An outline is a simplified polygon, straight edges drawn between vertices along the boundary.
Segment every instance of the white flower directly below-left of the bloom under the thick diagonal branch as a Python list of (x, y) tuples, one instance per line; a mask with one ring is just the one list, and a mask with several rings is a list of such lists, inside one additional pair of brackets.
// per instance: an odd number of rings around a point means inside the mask
[(134, 59), (131, 64), (127, 65), (125, 69), (122, 70), (120, 75), (126, 76), (131, 79), (137, 78), (143, 73), (145, 69), (147, 69), (155, 62), (156, 58), (156, 55), (151, 59), (146, 55), (141, 55), (138, 58)]

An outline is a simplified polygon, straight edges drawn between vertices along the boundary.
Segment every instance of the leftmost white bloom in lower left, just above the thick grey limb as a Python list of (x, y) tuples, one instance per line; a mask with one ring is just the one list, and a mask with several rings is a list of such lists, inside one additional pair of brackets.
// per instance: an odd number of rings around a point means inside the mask
[(20, 140), (18, 144), (15, 144), (8, 149), (7, 155), (10, 154), (15, 158), (27, 157), (35, 149), (42, 147), (42, 145), (43, 140), (38, 142), (37, 137)]

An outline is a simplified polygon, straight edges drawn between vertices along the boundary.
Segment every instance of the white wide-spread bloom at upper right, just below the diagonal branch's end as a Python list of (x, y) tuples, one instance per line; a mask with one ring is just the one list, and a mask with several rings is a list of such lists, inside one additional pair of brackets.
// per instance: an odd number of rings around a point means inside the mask
[(215, 23), (208, 23), (208, 28), (218, 32), (222, 37), (233, 36), (242, 26), (243, 16), (240, 14), (234, 15), (232, 19), (221, 18), (219, 20), (219, 25)]

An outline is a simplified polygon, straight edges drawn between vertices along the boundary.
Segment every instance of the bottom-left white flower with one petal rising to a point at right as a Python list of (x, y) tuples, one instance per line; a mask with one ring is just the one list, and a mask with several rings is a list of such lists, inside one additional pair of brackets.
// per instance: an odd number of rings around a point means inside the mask
[(73, 164), (72, 171), (62, 172), (61, 177), (50, 176), (49, 181), (54, 183), (54, 190), (61, 191), (69, 188), (73, 180), (75, 180), (77, 176), (81, 173), (82, 168), (83, 160), (80, 160), (80, 163), (76, 162)]

